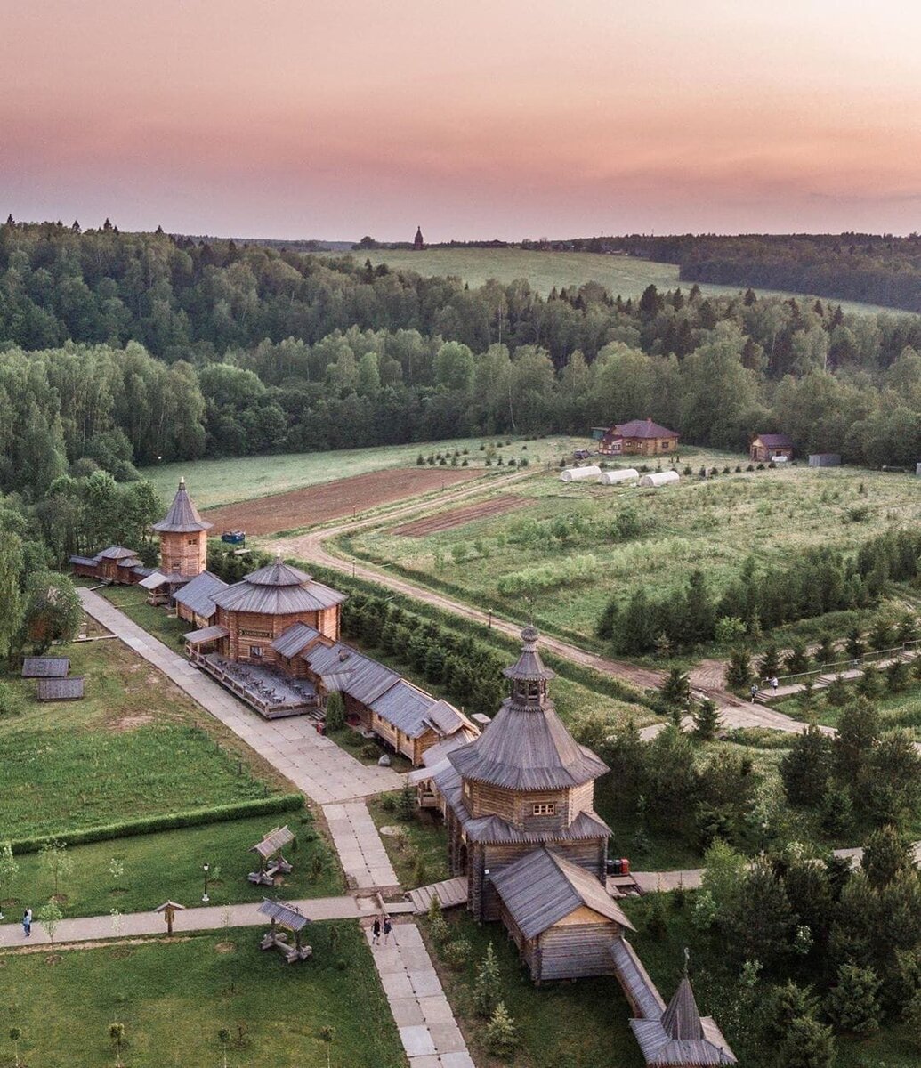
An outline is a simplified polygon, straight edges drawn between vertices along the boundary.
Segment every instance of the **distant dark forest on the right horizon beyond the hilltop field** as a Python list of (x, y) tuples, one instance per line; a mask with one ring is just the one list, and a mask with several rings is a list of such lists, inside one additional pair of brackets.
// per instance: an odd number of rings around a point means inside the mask
[(619, 237), (578, 242), (678, 264), (682, 281), (761, 286), (921, 312), (921, 236), (747, 234)]

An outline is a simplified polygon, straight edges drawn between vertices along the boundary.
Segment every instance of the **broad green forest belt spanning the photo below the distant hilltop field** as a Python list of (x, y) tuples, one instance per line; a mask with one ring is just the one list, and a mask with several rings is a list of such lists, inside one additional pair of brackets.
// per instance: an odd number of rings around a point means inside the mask
[(683, 443), (768, 429), (871, 466), (921, 454), (921, 317), (596, 283), (545, 300), (381, 265), (165, 234), (0, 226), (0, 489), (80, 460), (457, 435), (586, 433), (652, 417)]

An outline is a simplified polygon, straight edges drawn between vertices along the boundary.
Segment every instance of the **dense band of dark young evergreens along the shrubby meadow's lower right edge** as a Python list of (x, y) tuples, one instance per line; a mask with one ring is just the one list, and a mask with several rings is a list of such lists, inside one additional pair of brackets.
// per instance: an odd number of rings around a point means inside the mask
[(650, 597), (640, 586), (626, 603), (611, 598), (597, 634), (623, 655), (642, 656), (721, 641), (756, 641), (764, 631), (797, 619), (874, 604), (888, 582), (917, 578), (921, 535), (902, 530), (870, 538), (856, 553), (838, 549), (787, 552), (783, 566), (754, 556), (718, 593), (694, 570), (684, 586)]

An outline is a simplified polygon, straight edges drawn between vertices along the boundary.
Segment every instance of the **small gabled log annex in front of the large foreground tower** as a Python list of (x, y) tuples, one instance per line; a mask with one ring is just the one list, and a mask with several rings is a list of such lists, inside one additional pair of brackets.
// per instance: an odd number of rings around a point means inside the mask
[(611, 943), (635, 928), (591, 871), (542, 848), (493, 883), (499, 917), (536, 983), (614, 973)]

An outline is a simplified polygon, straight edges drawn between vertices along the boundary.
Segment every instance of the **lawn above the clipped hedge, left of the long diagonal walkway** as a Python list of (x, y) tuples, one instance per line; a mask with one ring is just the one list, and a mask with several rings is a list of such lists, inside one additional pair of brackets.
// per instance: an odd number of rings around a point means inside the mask
[(85, 678), (80, 702), (25, 698), (0, 720), (3, 837), (66, 833), (124, 819), (288, 792), (287, 783), (120, 641), (56, 647)]

